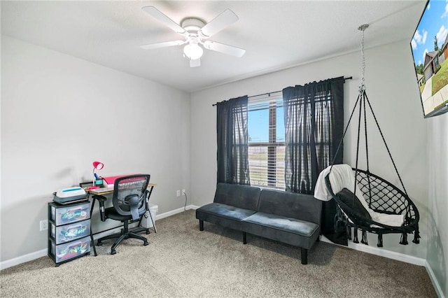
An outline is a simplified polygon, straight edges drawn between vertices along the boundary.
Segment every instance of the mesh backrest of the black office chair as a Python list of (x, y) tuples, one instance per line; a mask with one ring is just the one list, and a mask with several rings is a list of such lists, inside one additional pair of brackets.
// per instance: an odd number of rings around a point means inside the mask
[(148, 174), (134, 174), (117, 178), (113, 184), (113, 207), (120, 215), (131, 215), (138, 220), (146, 212)]

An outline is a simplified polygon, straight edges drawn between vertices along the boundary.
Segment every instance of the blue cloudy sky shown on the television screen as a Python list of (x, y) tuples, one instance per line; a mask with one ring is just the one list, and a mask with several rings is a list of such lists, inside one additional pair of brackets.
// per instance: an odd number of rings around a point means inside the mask
[(426, 7), (423, 17), (411, 41), (414, 63), (425, 62), (426, 52), (434, 51), (434, 37), (437, 45), (442, 48), (448, 34), (448, 2), (431, 0)]

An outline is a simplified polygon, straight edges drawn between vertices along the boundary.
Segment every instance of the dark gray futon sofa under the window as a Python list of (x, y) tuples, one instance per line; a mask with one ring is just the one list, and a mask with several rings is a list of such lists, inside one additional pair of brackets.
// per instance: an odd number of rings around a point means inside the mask
[(298, 246), (302, 264), (318, 241), (322, 201), (310, 194), (260, 190), (248, 185), (218, 183), (214, 202), (196, 210), (200, 230), (204, 221)]

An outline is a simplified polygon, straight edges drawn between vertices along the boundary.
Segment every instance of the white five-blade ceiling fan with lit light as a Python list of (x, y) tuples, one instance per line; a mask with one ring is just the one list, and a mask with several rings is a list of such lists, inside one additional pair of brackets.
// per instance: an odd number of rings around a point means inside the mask
[(154, 6), (145, 6), (141, 9), (184, 37), (183, 40), (140, 45), (140, 47), (144, 50), (187, 44), (183, 48), (183, 55), (190, 59), (190, 67), (201, 65), (200, 57), (202, 57), (204, 50), (202, 50), (200, 45), (207, 50), (214, 50), (216, 52), (222, 52), (235, 57), (241, 57), (244, 55), (244, 52), (246, 52), (246, 50), (234, 47), (232, 45), (225, 45), (223, 43), (208, 40), (209, 37), (238, 20), (238, 16), (235, 15), (235, 13), (230, 9), (224, 10), (223, 13), (216, 16), (208, 23), (198, 17), (186, 17), (181, 21), (180, 25), (167, 17), (167, 15)]

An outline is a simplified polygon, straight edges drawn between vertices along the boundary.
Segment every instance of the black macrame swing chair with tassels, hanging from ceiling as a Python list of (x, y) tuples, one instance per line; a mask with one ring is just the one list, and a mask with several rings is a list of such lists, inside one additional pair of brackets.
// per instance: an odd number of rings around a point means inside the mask
[[(330, 179), (331, 171), (335, 171), (333, 166), (338, 166), (332, 164), (329, 167), (328, 174), (325, 176), (325, 187), (328, 193), (331, 195), (333, 199), (335, 199), (337, 203), (337, 213), (335, 215), (335, 230), (339, 227), (339, 225), (345, 225), (347, 239), (351, 240), (351, 228), (353, 228), (353, 242), (359, 243), (358, 241), (358, 229), (362, 232), (361, 243), (367, 243), (367, 232), (371, 232), (377, 234), (378, 236), (378, 247), (383, 246), (383, 234), (401, 234), (400, 244), (407, 244), (407, 234), (414, 234), (414, 239), (412, 242), (419, 243), (419, 211), (417, 210), (415, 204), (409, 199), (407, 192), (405, 190), (405, 186), (402, 183), (400, 174), (398, 173), (397, 167), (395, 166), (395, 162), (393, 162), (392, 155), (386, 141), (384, 139), (383, 133), (379, 128), (379, 124), (376, 116), (372, 110), (372, 106), (370, 105), (369, 99), (367, 99), (367, 94), (365, 92), (364, 85), (364, 70), (365, 70), (365, 59), (364, 59), (364, 30), (368, 27), (368, 24), (363, 24), (358, 29), (362, 31), (363, 39), (361, 42), (361, 55), (362, 55), (362, 76), (361, 76), (361, 85), (359, 88), (358, 99), (356, 101), (353, 110), (351, 111), (351, 115), (349, 118), (349, 122), (346, 125), (344, 130), (344, 135), (342, 136), (342, 140), (347, 132), (347, 129), (350, 125), (351, 119), (353, 117), (353, 113), (358, 108), (359, 117), (358, 117), (358, 140), (356, 145), (356, 166), (355, 168), (350, 169), (348, 166), (348, 171), (350, 174), (354, 175), (354, 185), (353, 190), (354, 193), (349, 192), (349, 195), (353, 195), (351, 200), (344, 199), (344, 195), (342, 192), (335, 194), (333, 192), (332, 184), (330, 181), (335, 181)], [(372, 113), (372, 118), (376, 123), (376, 126), (379, 130), (379, 134), (381, 134), (381, 138), (386, 146), (389, 157), (391, 158), (391, 162), (395, 169), (395, 173), (397, 174), (402, 189), (392, 185), (384, 178), (381, 178), (373, 173), (370, 173), (369, 169), (369, 154), (367, 148), (367, 120), (366, 113), (370, 111)], [(363, 121), (362, 121), (363, 120)], [(359, 147), (360, 147), (360, 132), (361, 127), (364, 127), (365, 132), (365, 155), (366, 155), (366, 166), (367, 169), (361, 170), (358, 169), (358, 157), (359, 157)], [(339, 143), (339, 148), (342, 144), (342, 140)], [(337, 151), (339, 151), (339, 148)], [(337, 154), (336, 154), (337, 155)], [(367, 215), (365, 212), (360, 212), (359, 202), (356, 204), (355, 196), (356, 190), (360, 190), (361, 194), (358, 194), (358, 198), (364, 199), (364, 205), (367, 205), (370, 208), (370, 211), (374, 211), (375, 214), (379, 214), (380, 216), (389, 216), (389, 215), (399, 215), (402, 218), (402, 224), (400, 226), (388, 225), (384, 222), (388, 222), (387, 220), (383, 222), (379, 222)], [(343, 227), (343, 226), (342, 226)]]

